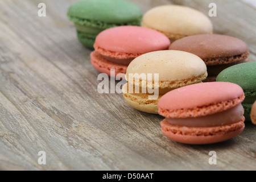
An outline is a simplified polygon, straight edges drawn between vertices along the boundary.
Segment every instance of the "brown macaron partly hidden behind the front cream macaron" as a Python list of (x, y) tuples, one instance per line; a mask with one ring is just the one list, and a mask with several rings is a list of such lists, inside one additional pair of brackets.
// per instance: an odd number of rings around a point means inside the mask
[(192, 35), (176, 40), (170, 50), (186, 51), (199, 56), (207, 65), (205, 82), (216, 81), (218, 73), (232, 65), (247, 62), (245, 42), (227, 35)]

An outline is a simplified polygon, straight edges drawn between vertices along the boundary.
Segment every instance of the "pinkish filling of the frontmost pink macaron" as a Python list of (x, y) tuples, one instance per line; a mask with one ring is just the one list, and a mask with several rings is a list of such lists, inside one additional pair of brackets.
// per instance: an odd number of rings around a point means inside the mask
[(187, 127), (212, 127), (230, 125), (240, 121), (243, 117), (243, 106), (238, 104), (228, 110), (220, 113), (205, 115), (195, 118), (166, 118), (171, 125), (187, 126)]

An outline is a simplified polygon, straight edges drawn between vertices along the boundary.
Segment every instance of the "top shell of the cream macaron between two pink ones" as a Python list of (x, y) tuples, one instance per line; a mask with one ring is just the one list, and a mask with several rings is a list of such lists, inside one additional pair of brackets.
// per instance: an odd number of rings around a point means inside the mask
[(159, 82), (172, 82), (205, 75), (207, 67), (200, 57), (188, 52), (155, 51), (145, 53), (131, 61), (127, 68), (127, 78), (130, 73), (156, 73), (159, 75)]

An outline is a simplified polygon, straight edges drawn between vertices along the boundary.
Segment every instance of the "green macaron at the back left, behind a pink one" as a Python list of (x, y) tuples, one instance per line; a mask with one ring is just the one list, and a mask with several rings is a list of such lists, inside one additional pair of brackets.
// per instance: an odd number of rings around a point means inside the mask
[(137, 5), (129, 1), (86, 0), (71, 5), (68, 18), (75, 23), (80, 42), (93, 48), (98, 33), (115, 26), (139, 26), (142, 13)]

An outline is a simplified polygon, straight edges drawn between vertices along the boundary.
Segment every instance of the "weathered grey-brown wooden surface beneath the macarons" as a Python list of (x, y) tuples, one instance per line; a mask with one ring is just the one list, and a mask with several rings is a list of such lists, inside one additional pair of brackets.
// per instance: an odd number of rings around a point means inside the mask
[[(39, 18), (38, 4), (47, 16)], [(90, 50), (76, 38), (67, 9), (75, 0), (0, 0), (0, 169), (256, 169), (256, 126), (226, 142), (191, 146), (160, 131), (163, 117), (134, 110), (122, 94), (97, 93)], [(256, 60), (256, 10), (233, 0), (133, 0), (143, 13), (175, 3), (208, 14), (214, 32), (236, 36)], [(246, 1), (248, 2), (248, 1)], [(46, 151), (46, 165), (38, 152)], [(209, 151), (217, 164), (209, 165)]]

